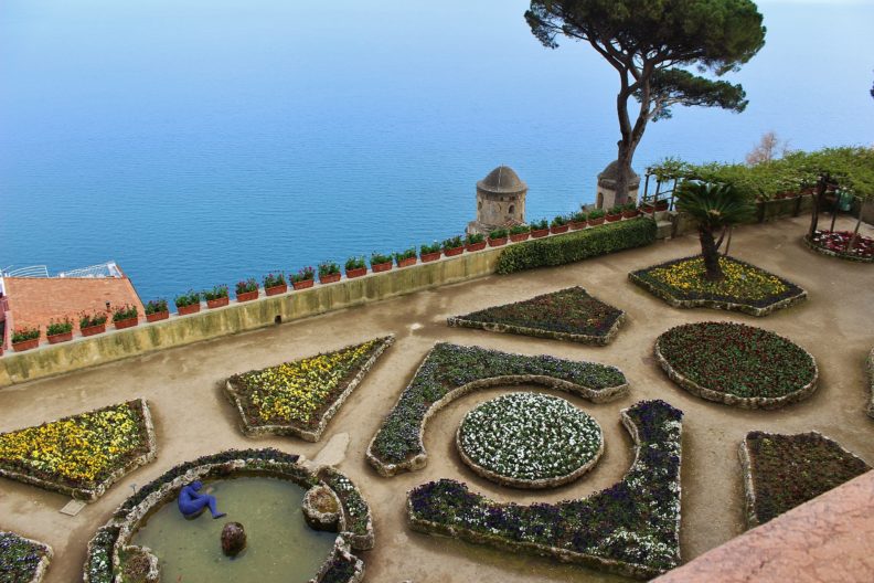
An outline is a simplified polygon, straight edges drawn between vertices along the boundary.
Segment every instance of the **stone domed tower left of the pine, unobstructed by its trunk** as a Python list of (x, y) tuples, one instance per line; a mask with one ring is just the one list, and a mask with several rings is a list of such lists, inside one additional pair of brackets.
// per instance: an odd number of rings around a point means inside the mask
[(499, 166), (477, 182), (477, 220), (468, 233), (488, 234), (501, 226), (525, 222), (527, 184), (508, 166)]

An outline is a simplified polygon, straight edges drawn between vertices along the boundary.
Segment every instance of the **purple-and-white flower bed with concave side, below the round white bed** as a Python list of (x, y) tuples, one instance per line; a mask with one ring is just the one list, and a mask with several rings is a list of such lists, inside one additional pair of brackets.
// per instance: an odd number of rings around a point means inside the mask
[(682, 415), (662, 401), (623, 410), (635, 463), (619, 483), (588, 498), (499, 504), (441, 479), (407, 495), (411, 527), (627, 576), (659, 575), (680, 564)]

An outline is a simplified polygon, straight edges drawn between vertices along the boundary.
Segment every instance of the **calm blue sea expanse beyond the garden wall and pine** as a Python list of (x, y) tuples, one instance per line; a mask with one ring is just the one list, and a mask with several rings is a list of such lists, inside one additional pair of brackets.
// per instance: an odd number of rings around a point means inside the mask
[[(529, 219), (594, 200), (615, 72), (523, 0), (3, 0), (0, 267), (117, 261), (143, 299), (462, 231), (500, 163)], [(636, 167), (874, 141), (874, 2), (761, 2), (733, 115), (678, 109)]]

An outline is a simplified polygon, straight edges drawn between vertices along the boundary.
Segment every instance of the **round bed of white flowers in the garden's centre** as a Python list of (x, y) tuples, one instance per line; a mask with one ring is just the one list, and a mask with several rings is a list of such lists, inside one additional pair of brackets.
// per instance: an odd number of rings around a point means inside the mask
[(456, 444), (473, 471), (518, 488), (573, 481), (604, 452), (597, 421), (564, 399), (537, 393), (480, 404), (465, 415)]

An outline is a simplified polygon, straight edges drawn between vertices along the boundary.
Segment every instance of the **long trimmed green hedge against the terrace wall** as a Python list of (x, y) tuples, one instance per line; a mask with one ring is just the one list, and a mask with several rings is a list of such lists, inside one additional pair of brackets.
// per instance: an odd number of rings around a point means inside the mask
[(495, 272), (509, 274), (534, 267), (578, 262), (615, 251), (642, 247), (656, 241), (656, 221), (639, 216), (566, 235), (535, 239), (508, 247)]

